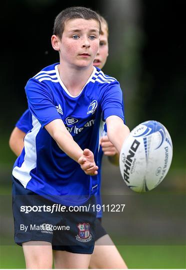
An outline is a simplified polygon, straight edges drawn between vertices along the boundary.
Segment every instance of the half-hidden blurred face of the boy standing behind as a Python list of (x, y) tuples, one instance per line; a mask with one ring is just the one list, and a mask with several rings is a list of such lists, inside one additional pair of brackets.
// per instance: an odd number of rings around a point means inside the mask
[(104, 66), (108, 56), (108, 33), (105, 23), (101, 24), (99, 49), (93, 61), (93, 65), (100, 69)]

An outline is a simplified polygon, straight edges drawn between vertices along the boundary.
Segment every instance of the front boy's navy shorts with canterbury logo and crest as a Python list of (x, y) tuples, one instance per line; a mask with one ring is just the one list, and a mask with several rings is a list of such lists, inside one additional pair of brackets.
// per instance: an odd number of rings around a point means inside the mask
[(75, 211), (71, 211), (72, 207), (69, 206), (69, 210), (68, 206), (58, 204), (63, 211), (51, 212), (52, 205), (58, 209), (57, 203), (24, 188), (14, 177), (12, 196), (15, 243), (45, 241), (57, 250), (82, 254), (93, 252), (96, 212), (91, 205), (95, 204), (94, 196), (83, 204), (86, 210), (75, 207)]

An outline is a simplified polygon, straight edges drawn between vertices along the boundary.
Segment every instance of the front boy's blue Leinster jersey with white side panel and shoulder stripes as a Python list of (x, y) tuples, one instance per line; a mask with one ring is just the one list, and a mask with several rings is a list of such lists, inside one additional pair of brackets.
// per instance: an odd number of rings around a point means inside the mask
[(62, 119), (78, 145), (89, 148), (97, 163), (99, 136), (110, 115), (123, 119), (122, 92), (113, 77), (95, 67), (77, 96), (62, 83), (58, 63), (28, 80), (25, 91), (33, 128), (24, 137), (24, 149), (12, 174), (35, 193), (64, 205), (83, 204), (97, 191), (97, 175), (86, 175), (46, 131), (44, 125)]

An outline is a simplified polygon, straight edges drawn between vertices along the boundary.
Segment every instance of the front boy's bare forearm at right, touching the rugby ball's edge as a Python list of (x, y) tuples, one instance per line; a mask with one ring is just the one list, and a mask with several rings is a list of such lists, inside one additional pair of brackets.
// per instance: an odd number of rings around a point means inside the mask
[(106, 126), (109, 141), (115, 146), (117, 152), (120, 153), (123, 141), (130, 133), (129, 128), (116, 115), (106, 118)]

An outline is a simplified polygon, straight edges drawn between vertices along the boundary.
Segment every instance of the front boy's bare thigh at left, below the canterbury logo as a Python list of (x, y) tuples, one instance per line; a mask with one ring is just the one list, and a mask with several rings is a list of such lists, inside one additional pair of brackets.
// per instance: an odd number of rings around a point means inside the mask
[(45, 241), (28, 241), (22, 243), (26, 268), (52, 268), (51, 243)]

